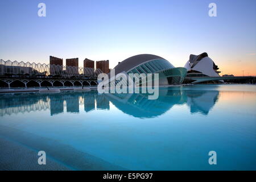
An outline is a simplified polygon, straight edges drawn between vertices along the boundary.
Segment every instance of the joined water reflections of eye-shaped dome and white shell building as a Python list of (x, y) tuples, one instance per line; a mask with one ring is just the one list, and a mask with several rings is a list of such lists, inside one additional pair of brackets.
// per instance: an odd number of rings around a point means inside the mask
[(191, 113), (208, 114), (218, 99), (217, 90), (160, 89), (156, 100), (148, 100), (147, 94), (106, 94), (123, 113), (138, 118), (158, 117), (174, 105), (186, 104)]

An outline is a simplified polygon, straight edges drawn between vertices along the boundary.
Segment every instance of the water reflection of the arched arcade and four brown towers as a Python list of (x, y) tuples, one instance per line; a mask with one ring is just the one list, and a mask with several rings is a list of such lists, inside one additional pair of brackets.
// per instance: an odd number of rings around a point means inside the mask
[[(69, 113), (79, 113), (79, 105), (84, 105), (86, 112), (96, 108), (109, 110), (109, 100), (102, 94), (98, 95), (96, 90), (90, 92), (60, 92), (58, 94), (1, 94), (0, 100), (0, 116), (38, 110), (50, 110), (51, 115), (54, 115), (64, 113), (64, 107), (67, 108)], [(96, 103), (97, 107), (95, 108)]]

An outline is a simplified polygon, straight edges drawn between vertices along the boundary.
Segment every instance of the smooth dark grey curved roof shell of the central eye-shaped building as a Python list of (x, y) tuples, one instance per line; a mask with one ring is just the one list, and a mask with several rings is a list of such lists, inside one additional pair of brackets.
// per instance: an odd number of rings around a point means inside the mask
[(142, 54), (129, 57), (126, 60), (123, 60), (121, 63), (119, 63), (116, 67), (114, 67), (115, 74), (121, 73), (123, 71), (127, 72), (131, 68), (136, 67), (136, 65), (142, 64), (146, 61), (153, 59), (163, 59), (163, 57), (150, 54)]

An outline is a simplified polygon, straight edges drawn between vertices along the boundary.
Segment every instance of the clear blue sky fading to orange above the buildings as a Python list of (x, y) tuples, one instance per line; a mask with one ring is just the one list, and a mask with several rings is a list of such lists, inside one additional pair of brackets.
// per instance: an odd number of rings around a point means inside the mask
[[(210, 17), (209, 3), (217, 16)], [(38, 16), (38, 4), (46, 16)], [(184, 67), (207, 52), (221, 74), (256, 76), (255, 0), (0, 1), (0, 59), (119, 61), (141, 53)], [(65, 61), (64, 61), (65, 64)]]

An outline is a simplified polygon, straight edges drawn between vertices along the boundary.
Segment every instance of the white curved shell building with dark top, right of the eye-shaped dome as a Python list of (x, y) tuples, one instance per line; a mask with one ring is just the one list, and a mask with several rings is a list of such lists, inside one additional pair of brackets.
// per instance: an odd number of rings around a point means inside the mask
[(218, 75), (220, 72), (217, 71), (217, 65), (208, 57), (206, 52), (198, 56), (190, 55), (184, 67), (187, 69), (188, 75), (203, 73), (202, 76), (220, 76)]

